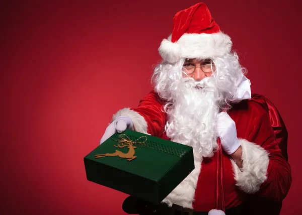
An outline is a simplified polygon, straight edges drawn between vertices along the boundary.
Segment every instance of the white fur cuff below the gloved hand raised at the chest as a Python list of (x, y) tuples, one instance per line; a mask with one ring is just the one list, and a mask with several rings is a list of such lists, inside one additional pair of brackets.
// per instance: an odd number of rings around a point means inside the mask
[(240, 139), (243, 167), (231, 159), (236, 185), (246, 193), (255, 193), (267, 178), (268, 153), (259, 145)]

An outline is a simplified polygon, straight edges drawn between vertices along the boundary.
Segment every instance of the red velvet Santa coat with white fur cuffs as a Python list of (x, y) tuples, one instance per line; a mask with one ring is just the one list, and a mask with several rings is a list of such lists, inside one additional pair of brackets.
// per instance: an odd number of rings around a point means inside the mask
[[(228, 112), (236, 123), (243, 152), (243, 168), (239, 169), (230, 156), (223, 153), (225, 209), (245, 202), (244, 214), (279, 214), (280, 202), (291, 184), (290, 166), (282, 156), (267, 110), (254, 97), (233, 104)], [(119, 116), (129, 116), (136, 131), (169, 140), (164, 129), (167, 122), (164, 104), (165, 101), (152, 91), (140, 100), (138, 107), (120, 110), (113, 120)], [(187, 203), (182, 206), (195, 211), (209, 211), (216, 207), (216, 156), (217, 153), (214, 153), (213, 157), (202, 159), (194, 191), (180, 190), (184, 195), (192, 194), (194, 197), (190, 206)], [(181, 198), (177, 194), (174, 196)], [(256, 202), (257, 199), (261, 201)], [(259, 203), (266, 208), (261, 206), (259, 209)]]

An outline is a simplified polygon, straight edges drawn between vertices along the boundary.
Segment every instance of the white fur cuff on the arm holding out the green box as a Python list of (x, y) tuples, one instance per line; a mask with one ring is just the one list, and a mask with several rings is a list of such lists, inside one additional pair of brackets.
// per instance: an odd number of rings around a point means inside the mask
[(134, 130), (143, 134), (147, 133), (147, 122), (145, 119), (135, 111), (130, 110), (129, 107), (119, 110), (116, 114), (113, 115), (112, 121), (120, 116), (127, 116), (133, 122)]

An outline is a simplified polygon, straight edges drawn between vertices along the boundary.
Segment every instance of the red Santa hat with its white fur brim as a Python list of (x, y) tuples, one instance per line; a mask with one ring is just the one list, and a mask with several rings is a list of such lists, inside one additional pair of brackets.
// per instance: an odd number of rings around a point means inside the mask
[(178, 12), (172, 35), (159, 48), (163, 60), (176, 63), (181, 58), (213, 58), (229, 53), (231, 38), (220, 31), (204, 3)]

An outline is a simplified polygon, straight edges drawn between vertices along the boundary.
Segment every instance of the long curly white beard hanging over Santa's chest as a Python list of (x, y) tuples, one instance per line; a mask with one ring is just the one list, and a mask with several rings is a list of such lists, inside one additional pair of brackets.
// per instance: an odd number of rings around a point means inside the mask
[(219, 107), (210, 78), (201, 82), (185, 78), (180, 82), (173, 92), (165, 127), (172, 141), (192, 146), (196, 158), (213, 156), (217, 147), (214, 129)]

